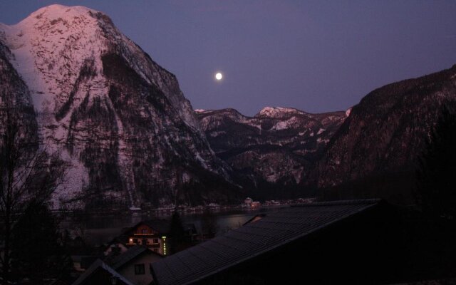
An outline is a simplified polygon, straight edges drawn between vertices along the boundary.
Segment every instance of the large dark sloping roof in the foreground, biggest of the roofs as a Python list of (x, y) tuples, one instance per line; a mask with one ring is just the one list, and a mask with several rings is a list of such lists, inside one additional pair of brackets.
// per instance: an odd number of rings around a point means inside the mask
[(318, 202), (270, 212), (195, 247), (152, 264), (159, 285), (192, 284), (371, 208), (379, 199)]

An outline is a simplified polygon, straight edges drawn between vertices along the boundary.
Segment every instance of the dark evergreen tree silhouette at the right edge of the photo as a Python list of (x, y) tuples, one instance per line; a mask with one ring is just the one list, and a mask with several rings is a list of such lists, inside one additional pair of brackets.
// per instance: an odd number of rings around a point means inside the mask
[(418, 203), (431, 217), (456, 218), (456, 115), (446, 107), (420, 159)]

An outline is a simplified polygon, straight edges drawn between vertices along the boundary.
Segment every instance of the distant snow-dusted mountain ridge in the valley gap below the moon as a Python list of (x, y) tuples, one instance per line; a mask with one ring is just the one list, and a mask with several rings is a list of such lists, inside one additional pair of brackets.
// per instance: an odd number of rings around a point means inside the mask
[(266, 107), (247, 117), (233, 109), (197, 110), (218, 157), (253, 185), (266, 181), (278, 186), (306, 182), (316, 157), (347, 114)]

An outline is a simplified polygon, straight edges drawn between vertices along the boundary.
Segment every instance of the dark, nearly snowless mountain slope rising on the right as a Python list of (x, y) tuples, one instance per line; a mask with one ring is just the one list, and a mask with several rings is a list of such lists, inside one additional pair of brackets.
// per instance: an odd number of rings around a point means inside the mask
[(442, 105), (455, 103), (456, 66), (373, 90), (329, 142), (318, 163), (318, 184), (413, 172)]

